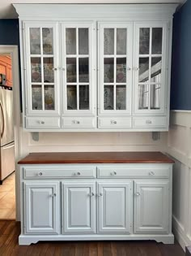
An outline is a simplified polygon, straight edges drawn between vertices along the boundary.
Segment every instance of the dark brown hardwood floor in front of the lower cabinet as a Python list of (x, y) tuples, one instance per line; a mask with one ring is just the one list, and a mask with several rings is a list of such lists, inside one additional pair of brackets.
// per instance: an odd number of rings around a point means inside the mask
[(19, 222), (0, 221), (1, 256), (185, 256), (179, 244), (155, 241), (53, 241), (19, 246), (19, 233)]

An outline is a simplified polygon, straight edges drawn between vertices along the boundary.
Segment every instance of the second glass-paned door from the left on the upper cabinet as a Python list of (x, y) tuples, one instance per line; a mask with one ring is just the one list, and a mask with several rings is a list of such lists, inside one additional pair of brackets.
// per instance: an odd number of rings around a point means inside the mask
[(96, 29), (94, 23), (62, 24), (64, 115), (93, 115), (96, 109)]

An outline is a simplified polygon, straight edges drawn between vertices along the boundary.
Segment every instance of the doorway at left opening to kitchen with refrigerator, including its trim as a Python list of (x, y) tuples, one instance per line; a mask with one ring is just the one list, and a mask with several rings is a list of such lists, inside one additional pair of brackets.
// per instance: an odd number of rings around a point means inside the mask
[[(2, 96), (2, 97), (1, 97)], [(17, 219), (19, 159), (18, 46), (0, 46), (0, 220)]]

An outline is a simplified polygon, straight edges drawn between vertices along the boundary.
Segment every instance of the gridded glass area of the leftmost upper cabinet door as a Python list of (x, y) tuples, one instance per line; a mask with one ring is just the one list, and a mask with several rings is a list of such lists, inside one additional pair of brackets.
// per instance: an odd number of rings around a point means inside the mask
[[(32, 102), (30, 111), (58, 111), (55, 87), (57, 86), (57, 54), (54, 33), (55, 25), (38, 26), (37, 24), (25, 24), (28, 31), (26, 35), (28, 67), (30, 67), (30, 77), (28, 83), (31, 85), (30, 93)], [(48, 114), (49, 114), (48, 113)]]

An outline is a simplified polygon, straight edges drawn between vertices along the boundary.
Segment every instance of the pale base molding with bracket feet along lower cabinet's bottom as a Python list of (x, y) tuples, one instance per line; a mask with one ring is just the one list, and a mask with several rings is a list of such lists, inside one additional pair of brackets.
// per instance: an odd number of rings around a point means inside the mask
[(51, 235), (20, 235), (19, 236), (19, 245), (31, 245), (36, 244), (38, 241), (137, 241), (137, 240), (155, 240), (156, 242), (162, 242), (163, 244), (174, 244), (173, 234), (168, 235), (83, 235), (83, 236), (51, 236)]

